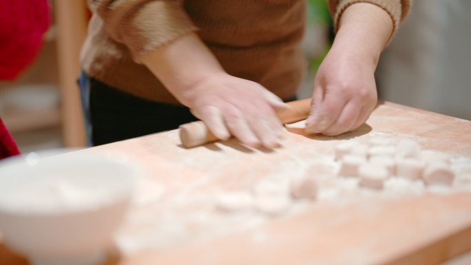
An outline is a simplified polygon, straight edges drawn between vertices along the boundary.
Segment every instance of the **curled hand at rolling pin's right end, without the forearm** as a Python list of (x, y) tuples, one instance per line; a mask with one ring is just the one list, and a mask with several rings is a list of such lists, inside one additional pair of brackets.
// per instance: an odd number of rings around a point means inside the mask
[(357, 129), (377, 103), (375, 64), (355, 51), (334, 46), (314, 80), (306, 132), (334, 136)]

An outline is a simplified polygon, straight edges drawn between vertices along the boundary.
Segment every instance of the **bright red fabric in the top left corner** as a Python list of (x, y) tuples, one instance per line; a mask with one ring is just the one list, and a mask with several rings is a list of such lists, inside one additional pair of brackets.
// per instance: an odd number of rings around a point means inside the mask
[(47, 0), (0, 0), (1, 80), (16, 78), (32, 63), (49, 24)]

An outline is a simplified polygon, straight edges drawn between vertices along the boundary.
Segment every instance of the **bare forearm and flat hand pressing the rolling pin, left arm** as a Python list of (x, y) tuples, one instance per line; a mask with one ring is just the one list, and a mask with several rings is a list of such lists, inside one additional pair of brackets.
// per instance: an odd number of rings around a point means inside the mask
[(258, 83), (224, 72), (196, 34), (149, 52), (143, 62), (220, 140), (232, 134), (252, 147), (278, 146), (283, 130), (275, 109), (287, 105)]

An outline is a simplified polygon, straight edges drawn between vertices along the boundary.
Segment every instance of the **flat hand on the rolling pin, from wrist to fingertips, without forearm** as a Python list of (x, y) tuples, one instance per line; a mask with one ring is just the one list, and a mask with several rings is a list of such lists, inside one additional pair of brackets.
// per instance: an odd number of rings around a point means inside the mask
[(187, 92), (184, 104), (220, 140), (233, 135), (251, 147), (278, 147), (283, 127), (275, 110), (287, 105), (262, 85), (222, 73)]

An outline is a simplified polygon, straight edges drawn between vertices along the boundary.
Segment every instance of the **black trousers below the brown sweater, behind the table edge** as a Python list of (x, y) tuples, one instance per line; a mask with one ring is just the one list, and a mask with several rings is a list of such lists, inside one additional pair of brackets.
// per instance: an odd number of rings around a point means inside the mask
[(88, 145), (104, 145), (178, 128), (197, 120), (187, 107), (156, 103), (79, 77)]

